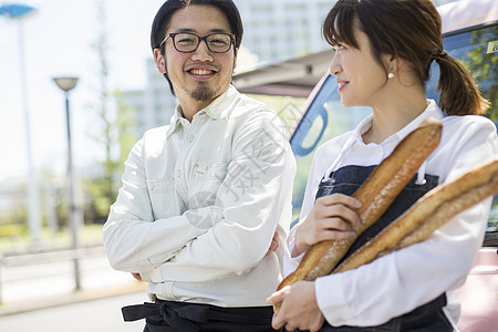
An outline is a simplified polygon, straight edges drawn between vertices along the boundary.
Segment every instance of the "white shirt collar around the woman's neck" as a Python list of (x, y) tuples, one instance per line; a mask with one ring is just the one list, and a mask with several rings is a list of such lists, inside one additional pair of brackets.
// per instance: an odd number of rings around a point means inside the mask
[[(423, 122), (427, 117), (436, 117), (438, 120), (443, 120), (445, 114), (437, 106), (434, 100), (427, 100), (427, 107), (417, 117), (415, 117), (411, 123), (404, 126), (401, 131), (393, 134), (391, 137), (387, 137), (384, 142), (390, 142), (391, 139), (401, 141), (405, 138), (409, 133), (412, 133), (421, 122)], [(354, 133), (355, 141), (363, 143), (363, 134), (365, 134), (372, 127), (373, 115), (366, 116), (357, 126)]]

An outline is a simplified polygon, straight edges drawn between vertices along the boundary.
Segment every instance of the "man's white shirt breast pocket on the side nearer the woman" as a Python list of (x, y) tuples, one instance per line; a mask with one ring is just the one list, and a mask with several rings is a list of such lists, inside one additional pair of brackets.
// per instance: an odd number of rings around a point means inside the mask
[(196, 165), (193, 175), (193, 190), (188, 197), (190, 208), (201, 208), (215, 204), (216, 195), (227, 177), (227, 164)]

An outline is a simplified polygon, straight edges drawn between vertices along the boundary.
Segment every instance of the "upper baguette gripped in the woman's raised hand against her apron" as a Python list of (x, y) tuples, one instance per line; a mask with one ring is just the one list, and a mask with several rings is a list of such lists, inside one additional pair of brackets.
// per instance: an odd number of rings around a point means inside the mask
[[(362, 222), (353, 229), (356, 237), (321, 241), (311, 246), (295, 271), (283, 279), (277, 290), (300, 280), (314, 280), (329, 274), (357, 236), (385, 212), (424, 160), (437, 147), (440, 132), (440, 121), (426, 118), (407, 135), (393, 153), (375, 167), (366, 181), (353, 195), (362, 203), (362, 207), (357, 209)], [(278, 307), (276, 305), (276, 311)]]

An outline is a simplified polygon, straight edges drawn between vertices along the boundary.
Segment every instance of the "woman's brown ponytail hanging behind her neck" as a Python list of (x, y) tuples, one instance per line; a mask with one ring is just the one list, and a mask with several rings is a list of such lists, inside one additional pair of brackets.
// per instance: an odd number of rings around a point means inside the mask
[(439, 107), (448, 115), (483, 114), (489, 102), (465, 66), (446, 51), (432, 56), (439, 64)]

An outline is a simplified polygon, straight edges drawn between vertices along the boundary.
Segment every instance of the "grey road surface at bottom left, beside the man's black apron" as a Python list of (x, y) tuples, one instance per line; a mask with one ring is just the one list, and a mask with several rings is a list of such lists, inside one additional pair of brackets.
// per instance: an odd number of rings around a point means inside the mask
[(142, 332), (145, 322), (123, 322), (121, 307), (144, 301), (144, 292), (136, 292), (0, 317), (0, 331)]

